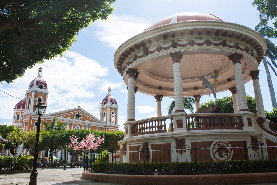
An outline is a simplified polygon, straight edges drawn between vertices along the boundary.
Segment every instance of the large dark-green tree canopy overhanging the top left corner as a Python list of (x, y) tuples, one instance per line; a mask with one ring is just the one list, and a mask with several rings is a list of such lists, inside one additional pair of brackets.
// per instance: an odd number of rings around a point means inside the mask
[(80, 29), (107, 19), (115, 0), (0, 1), (0, 82), (62, 55)]

